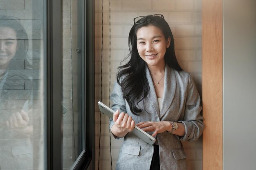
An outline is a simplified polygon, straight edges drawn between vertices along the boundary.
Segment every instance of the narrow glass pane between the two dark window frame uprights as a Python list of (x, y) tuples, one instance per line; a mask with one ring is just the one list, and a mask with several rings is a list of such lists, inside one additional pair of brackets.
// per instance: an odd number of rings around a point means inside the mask
[(63, 0), (63, 169), (69, 169), (83, 150), (77, 3)]

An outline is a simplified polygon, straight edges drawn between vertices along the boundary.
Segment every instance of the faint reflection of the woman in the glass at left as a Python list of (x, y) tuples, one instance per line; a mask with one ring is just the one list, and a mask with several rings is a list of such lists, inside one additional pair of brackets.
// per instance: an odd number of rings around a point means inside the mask
[[(32, 124), (29, 121), (31, 91), (25, 89), (29, 75), (20, 70), (27, 69), (28, 37), (17, 18), (0, 16), (0, 169), (19, 169), (13, 163), (26, 159), (26, 167), (33, 167)], [(18, 60), (15, 60), (18, 59)], [(17, 63), (18, 62), (18, 63)], [(26, 63), (26, 64), (24, 64)], [(20, 68), (20, 65), (23, 65)], [(18, 68), (18, 69), (17, 69)], [(30, 67), (29, 67), (30, 68)]]

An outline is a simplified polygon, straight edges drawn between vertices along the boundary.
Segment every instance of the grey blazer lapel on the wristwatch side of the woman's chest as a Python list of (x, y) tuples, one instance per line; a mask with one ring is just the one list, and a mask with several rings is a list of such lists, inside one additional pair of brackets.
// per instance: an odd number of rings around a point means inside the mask
[(169, 66), (166, 65), (165, 75), (164, 75), (164, 97), (163, 97), (162, 109), (160, 110), (160, 118), (164, 116), (168, 108), (171, 106), (171, 103), (173, 102), (173, 98), (175, 95), (175, 90), (176, 90), (175, 73), (173, 71), (173, 68), (170, 68)]

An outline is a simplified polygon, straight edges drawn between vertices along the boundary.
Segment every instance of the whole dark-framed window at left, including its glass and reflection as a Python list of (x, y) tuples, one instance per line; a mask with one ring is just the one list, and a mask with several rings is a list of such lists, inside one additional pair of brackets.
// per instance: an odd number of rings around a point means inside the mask
[(93, 5), (1, 1), (1, 170), (83, 170), (94, 160)]

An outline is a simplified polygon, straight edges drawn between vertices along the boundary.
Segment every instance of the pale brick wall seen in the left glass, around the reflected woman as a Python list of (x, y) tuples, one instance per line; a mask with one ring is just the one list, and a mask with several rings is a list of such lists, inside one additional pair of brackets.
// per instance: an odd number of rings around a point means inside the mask
[(42, 0), (1, 0), (0, 2), (0, 15), (18, 18), (27, 32), (29, 42), (28, 50), (25, 49), (25, 40), (16, 50), (16, 54), (26, 54), (26, 52), (27, 54), (16, 55), (9, 65), (6, 86), (0, 89), (2, 92), (0, 92), (0, 119), (22, 109), (29, 116), (29, 127), (33, 128), (32, 132), (22, 128), (18, 130), (0, 128), (0, 169), (2, 170), (32, 169), (38, 167), (42, 158), (40, 152), (43, 149), (40, 146), (42, 144), (40, 135), (43, 135), (40, 90), (42, 80), (40, 64), (43, 61), (42, 7)]

